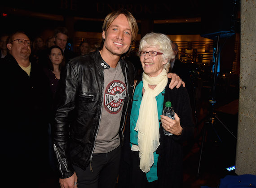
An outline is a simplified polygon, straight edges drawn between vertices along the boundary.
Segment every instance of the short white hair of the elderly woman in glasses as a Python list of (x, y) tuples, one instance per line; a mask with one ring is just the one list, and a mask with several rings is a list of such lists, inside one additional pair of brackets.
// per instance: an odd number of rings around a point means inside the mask
[(141, 39), (139, 51), (149, 46), (158, 47), (159, 52), (163, 53), (163, 59), (167, 59), (167, 64), (164, 65), (164, 68), (169, 72), (169, 68), (171, 66), (170, 60), (175, 58), (175, 54), (172, 51), (171, 39), (165, 34), (151, 32)]

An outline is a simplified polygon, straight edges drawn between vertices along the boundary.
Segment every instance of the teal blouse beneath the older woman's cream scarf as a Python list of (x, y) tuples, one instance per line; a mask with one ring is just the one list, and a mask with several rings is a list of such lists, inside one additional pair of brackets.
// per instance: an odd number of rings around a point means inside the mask
[[(142, 99), (142, 88), (143, 83), (142, 81), (137, 85), (134, 96), (132, 100), (132, 111), (130, 116), (130, 141), (131, 147), (133, 145), (138, 145), (138, 133), (134, 130), (136, 127), (136, 122), (139, 116), (139, 110), (141, 106), (141, 99)], [(155, 97), (157, 101), (157, 111), (158, 111), (158, 118), (159, 118), (159, 127), (160, 127), (160, 115), (163, 113), (163, 99), (164, 99), (164, 90), (158, 96)], [(154, 163), (153, 166), (150, 168), (150, 171), (146, 173), (146, 177), (148, 182), (153, 182), (158, 179), (157, 177), (157, 161), (158, 161), (158, 154), (154, 152)]]

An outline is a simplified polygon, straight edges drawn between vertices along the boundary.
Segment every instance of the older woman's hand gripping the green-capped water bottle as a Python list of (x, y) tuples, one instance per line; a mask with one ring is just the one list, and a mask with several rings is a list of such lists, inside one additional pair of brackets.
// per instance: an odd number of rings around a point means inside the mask
[(180, 124), (180, 118), (176, 113), (174, 114), (174, 119), (175, 120), (172, 120), (168, 116), (161, 115), (162, 126), (166, 131), (172, 134), (181, 135), (183, 128)]

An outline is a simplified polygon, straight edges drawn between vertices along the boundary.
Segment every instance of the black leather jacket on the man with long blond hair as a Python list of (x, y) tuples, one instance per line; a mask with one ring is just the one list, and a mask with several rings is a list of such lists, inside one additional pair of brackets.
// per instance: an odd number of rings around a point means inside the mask
[[(122, 59), (120, 65), (127, 85), (119, 130), (122, 142), (125, 116), (134, 87), (134, 67)], [(103, 70), (106, 68), (110, 66), (97, 50), (70, 60), (61, 76), (60, 99), (53, 126), (53, 149), (57, 155), (60, 178), (73, 175), (72, 164), (85, 169), (92, 161), (102, 114)]]

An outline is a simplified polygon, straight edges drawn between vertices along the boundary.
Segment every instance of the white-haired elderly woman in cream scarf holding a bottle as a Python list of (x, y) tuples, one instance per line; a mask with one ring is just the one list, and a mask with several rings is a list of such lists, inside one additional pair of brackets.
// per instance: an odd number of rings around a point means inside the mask
[[(137, 81), (125, 127), (119, 184), (132, 188), (179, 188), (182, 185), (183, 142), (194, 132), (192, 111), (184, 87), (171, 90), (167, 72), (173, 58), (171, 40), (146, 34), (139, 46), (143, 68)], [(175, 120), (162, 115), (171, 101)], [(167, 136), (163, 128), (171, 132)]]

